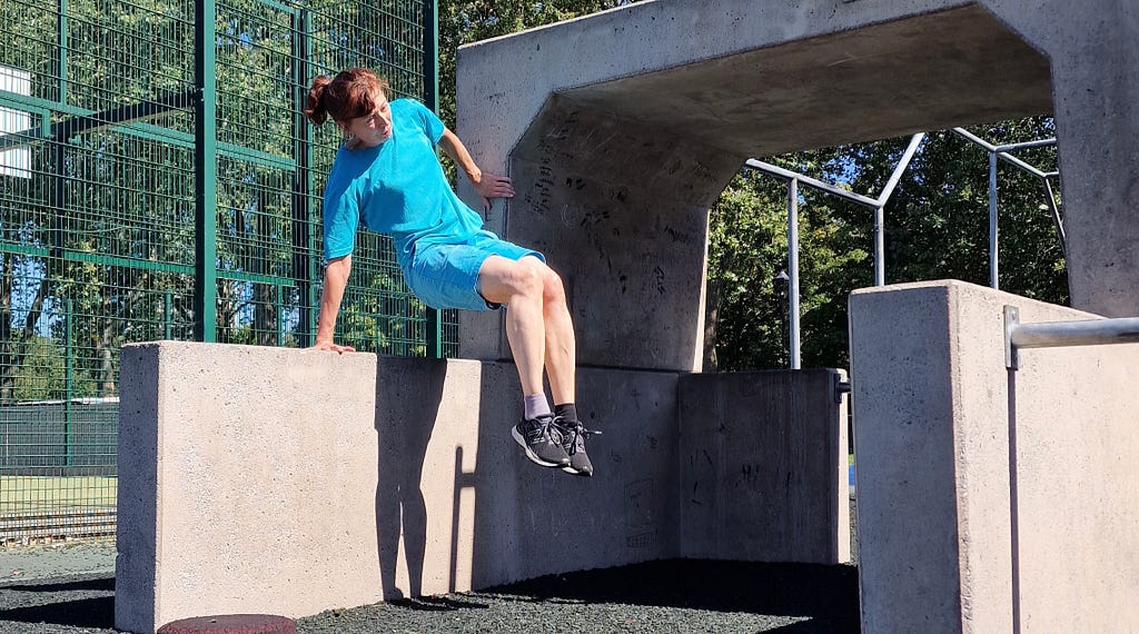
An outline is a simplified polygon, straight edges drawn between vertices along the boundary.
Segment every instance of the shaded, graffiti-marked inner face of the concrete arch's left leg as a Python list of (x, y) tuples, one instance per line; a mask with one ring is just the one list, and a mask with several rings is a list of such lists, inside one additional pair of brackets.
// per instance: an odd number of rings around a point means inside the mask
[[(630, 146), (638, 156), (624, 154)], [(707, 209), (737, 167), (693, 139), (659, 138), (567, 99), (547, 104), (511, 156), (524, 194), (509, 234), (525, 236), (565, 280), (583, 363), (700, 369)], [(499, 334), (508, 359), (503, 329), (481, 316), (464, 328)]]

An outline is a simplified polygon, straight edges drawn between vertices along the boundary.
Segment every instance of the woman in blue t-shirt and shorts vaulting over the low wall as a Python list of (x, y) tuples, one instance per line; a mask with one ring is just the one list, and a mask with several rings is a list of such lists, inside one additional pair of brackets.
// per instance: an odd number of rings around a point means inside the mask
[[(359, 222), (391, 234), (412, 293), (434, 308), (506, 307), (506, 332), (524, 395), (511, 429), (526, 456), (543, 467), (592, 476), (587, 430), (575, 402), (575, 339), (562, 279), (542, 254), (501, 240), (451, 189), (435, 147), (470, 179), (483, 199), (514, 196), (510, 180), (483, 172), (462, 141), (413, 99), (390, 101), (385, 80), (366, 68), (318, 76), (305, 115), (331, 118), (345, 134), (325, 189), (325, 285), (316, 349), (354, 352), (333, 341), (352, 269)], [(550, 381), (554, 410), (542, 389)]]

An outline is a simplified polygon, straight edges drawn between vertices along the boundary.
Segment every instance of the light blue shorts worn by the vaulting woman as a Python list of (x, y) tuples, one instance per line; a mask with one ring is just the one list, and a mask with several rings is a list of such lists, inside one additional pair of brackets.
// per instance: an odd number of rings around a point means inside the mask
[(417, 245), (411, 263), (403, 270), (408, 288), (433, 308), (490, 311), (501, 307), (478, 294), (478, 269), (492, 255), (522, 260), (533, 255), (546, 262), (541, 253), (481, 232), (459, 245)]

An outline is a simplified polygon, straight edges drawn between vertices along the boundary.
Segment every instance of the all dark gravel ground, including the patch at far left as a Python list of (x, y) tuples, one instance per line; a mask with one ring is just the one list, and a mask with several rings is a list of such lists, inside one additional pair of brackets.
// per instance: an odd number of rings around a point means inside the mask
[[(113, 566), (107, 543), (0, 551), (0, 632), (117, 632)], [(335, 610), (297, 632), (844, 634), (859, 632), (858, 568), (654, 561)]]

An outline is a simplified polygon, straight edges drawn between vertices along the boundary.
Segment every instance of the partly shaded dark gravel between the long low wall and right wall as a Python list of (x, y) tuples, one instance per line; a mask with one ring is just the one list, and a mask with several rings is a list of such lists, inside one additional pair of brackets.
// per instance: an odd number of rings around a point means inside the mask
[(323, 612), (297, 631), (849, 634), (859, 632), (858, 568), (652, 561)]

